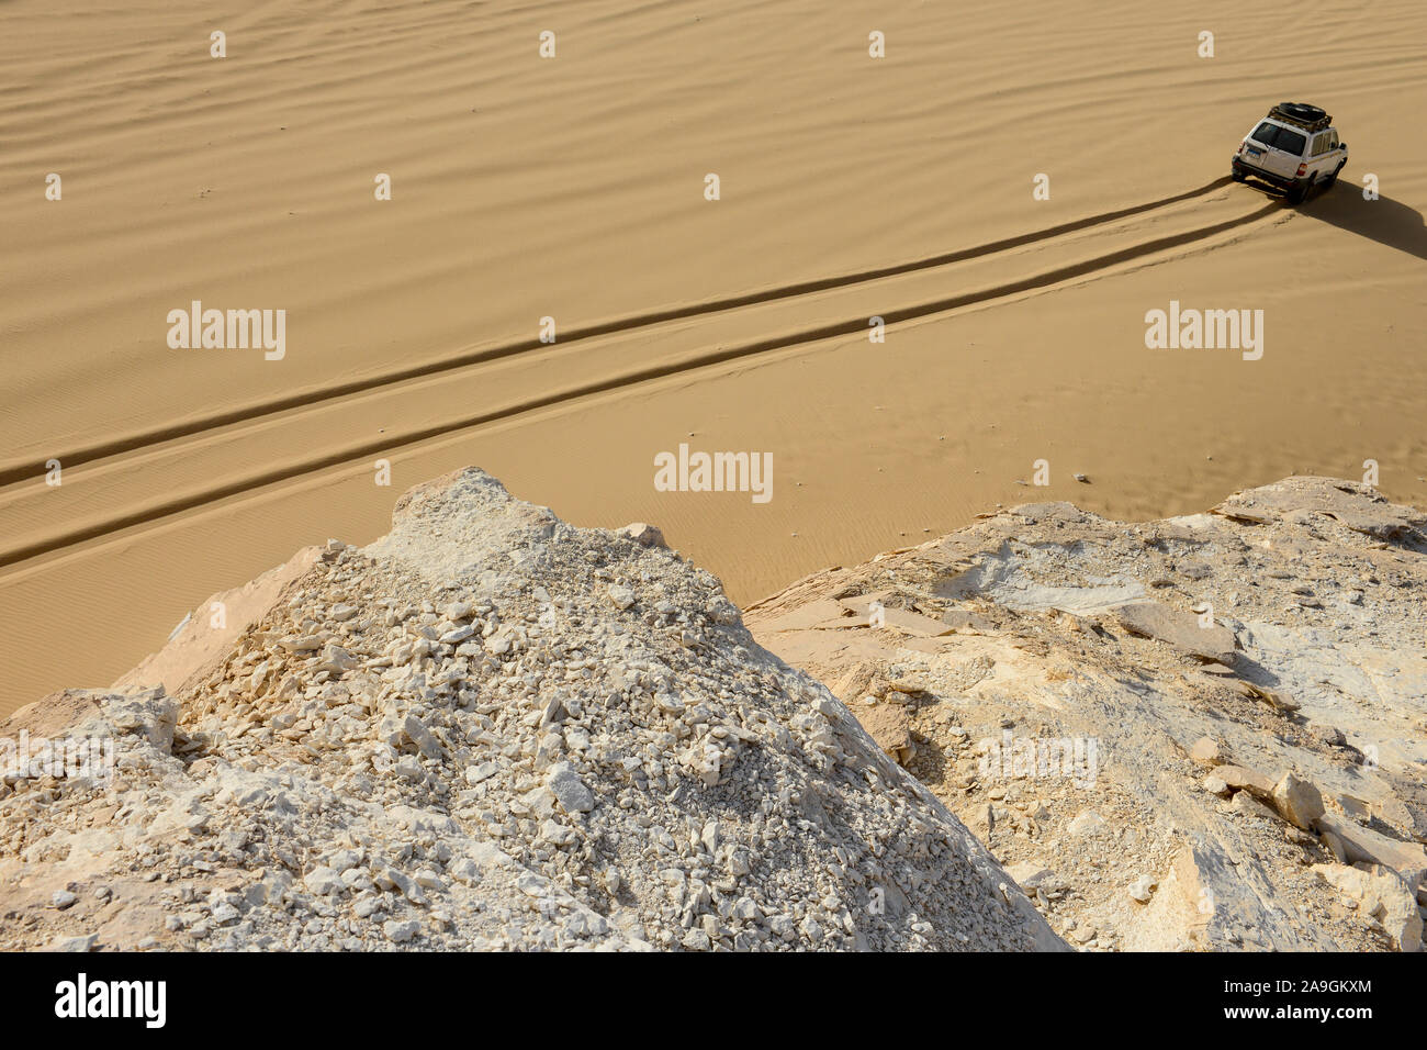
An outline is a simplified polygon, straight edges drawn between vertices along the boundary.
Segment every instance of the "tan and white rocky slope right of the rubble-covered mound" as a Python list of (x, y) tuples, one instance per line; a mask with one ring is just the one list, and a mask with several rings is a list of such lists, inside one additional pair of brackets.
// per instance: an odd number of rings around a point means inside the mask
[(745, 620), (898, 727), (1075, 944), (1414, 950), (1424, 596), (1427, 516), (1291, 477), (1143, 524), (1016, 507)]

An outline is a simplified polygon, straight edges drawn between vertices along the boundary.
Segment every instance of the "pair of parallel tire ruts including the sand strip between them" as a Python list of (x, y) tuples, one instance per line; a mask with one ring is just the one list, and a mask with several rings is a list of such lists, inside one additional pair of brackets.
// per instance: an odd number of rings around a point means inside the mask
[[(778, 350), (985, 309), (1157, 264), (1233, 240), (1290, 211), (1216, 179), (1156, 201), (930, 257), (474, 346), (440, 361), (295, 391), (0, 467), (0, 567), (304, 474), (645, 383)], [(946, 294), (955, 286), (953, 294)], [(558, 370), (561, 383), (548, 377)], [(415, 399), (412, 401), (412, 399)], [(380, 420), (421, 420), (378, 429)]]

